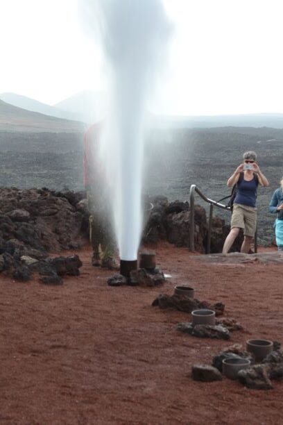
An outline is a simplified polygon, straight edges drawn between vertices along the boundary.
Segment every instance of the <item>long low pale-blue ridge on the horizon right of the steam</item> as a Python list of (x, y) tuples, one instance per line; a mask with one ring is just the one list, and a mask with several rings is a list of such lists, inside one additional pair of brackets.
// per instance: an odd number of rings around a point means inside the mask
[(283, 128), (283, 114), (262, 113), (243, 115), (156, 116), (156, 126), (171, 128), (270, 127)]

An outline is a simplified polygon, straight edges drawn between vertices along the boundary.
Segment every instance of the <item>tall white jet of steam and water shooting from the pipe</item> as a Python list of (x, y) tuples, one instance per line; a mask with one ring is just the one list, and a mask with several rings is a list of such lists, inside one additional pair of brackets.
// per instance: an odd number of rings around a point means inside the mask
[(141, 237), (141, 169), (146, 101), (170, 26), (160, 0), (85, 0), (101, 29), (110, 108), (105, 131), (112, 205), (121, 263), (135, 268)]

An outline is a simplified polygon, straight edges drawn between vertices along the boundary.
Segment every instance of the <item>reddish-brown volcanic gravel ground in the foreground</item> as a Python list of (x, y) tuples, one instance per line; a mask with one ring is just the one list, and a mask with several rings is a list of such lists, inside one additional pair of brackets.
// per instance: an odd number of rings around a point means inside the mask
[[(282, 424), (283, 382), (269, 391), (240, 383), (193, 381), (230, 344), (282, 338), (280, 263), (205, 263), (160, 244), (157, 265), (172, 277), (160, 288), (112, 288), (112, 272), (89, 265), (62, 286), (0, 275), (1, 424)], [(151, 306), (189, 283), (196, 298), (222, 301), (244, 331), (230, 342), (175, 330), (187, 313)]]

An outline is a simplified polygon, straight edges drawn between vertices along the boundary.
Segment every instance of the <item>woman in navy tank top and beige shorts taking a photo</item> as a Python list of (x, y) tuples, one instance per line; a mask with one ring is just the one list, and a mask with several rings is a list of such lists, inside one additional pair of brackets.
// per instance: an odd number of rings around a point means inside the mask
[(257, 154), (248, 151), (243, 154), (243, 164), (239, 165), (230, 178), (227, 185), (232, 188), (236, 185), (236, 197), (234, 198), (233, 212), (231, 217), (231, 230), (227, 236), (223, 254), (227, 254), (239, 234), (240, 228), (243, 229), (243, 244), (241, 252), (248, 253), (250, 244), (255, 237), (257, 228), (257, 208), (255, 202), (257, 199), (257, 186), (268, 186), (268, 180), (261, 173), (256, 163)]

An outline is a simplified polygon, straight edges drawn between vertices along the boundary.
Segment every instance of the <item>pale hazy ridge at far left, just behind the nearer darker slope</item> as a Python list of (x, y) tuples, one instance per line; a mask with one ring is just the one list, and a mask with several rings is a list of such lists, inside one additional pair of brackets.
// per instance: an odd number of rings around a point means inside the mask
[(1, 93), (0, 99), (10, 105), (17, 106), (26, 110), (32, 110), (44, 115), (50, 115), (51, 117), (72, 119), (78, 121), (76, 114), (67, 112), (66, 110), (60, 110), (55, 106), (47, 105), (46, 103), (39, 102), (30, 97), (22, 96), (22, 94), (16, 93)]

